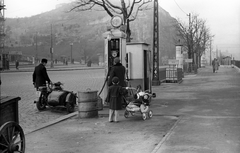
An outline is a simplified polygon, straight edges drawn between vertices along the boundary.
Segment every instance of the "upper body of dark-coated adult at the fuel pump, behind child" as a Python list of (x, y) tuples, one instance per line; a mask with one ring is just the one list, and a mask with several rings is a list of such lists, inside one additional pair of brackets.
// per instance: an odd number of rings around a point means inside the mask
[(108, 86), (112, 85), (112, 79), (113, 77), (118, 77), (119, 78), (119, 84), (121, 87), (126, 87), (126, 69), (125, 67), (120, 63), (120, 59), (116, 57), (114, 59), (114, 65), (110, 70), (109, 73), (109, 79), (108, 79)]

